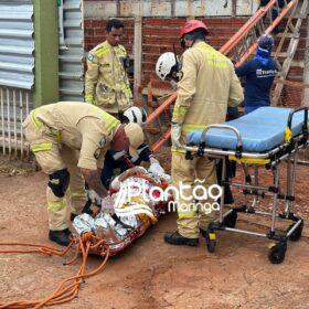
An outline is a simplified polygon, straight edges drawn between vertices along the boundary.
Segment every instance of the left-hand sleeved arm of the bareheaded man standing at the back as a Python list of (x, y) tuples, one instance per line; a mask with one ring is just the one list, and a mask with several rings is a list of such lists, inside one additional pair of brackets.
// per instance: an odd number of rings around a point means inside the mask
[(94, 103), (95, 87), (98, 81), (99, 64), (94, 53), (87, 55), (87, 71), (85, 74), (85, 102)]

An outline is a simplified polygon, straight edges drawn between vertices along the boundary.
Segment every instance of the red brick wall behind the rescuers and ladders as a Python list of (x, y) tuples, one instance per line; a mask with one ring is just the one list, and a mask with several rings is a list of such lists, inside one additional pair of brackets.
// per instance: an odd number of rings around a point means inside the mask
[[(132, 54), (134, 46), (134, 20), (122, 19), (125, 22), (125, 36), (122, 44), (129, 54)], [(215, 49), (220, 49), (247, 20), (247, 18), (204, 18), (201, 19), (210, 29), (207, 42)], [(161, 82), (156, 75), (156, 63), (158, 57), (164, 52), (175, 52), (180, 55), (182, 49), (179, 44), (179, 32), (183, 25), (184, 18), (143, 18), (142, 19), (142, 79), (151, 75), (152, 87), (168, 89), (169, 83)], [(85, 20), (85, 51), (89, 51), (105, 40), (105, 20)], [(306, 49), (306, 23), (301, 28), (300, 43), (295, 60), (303, 60)], [(276, 39), (278, 42), (278, 39)], [(302, 81), (303, 70), (291, 67), (288, 75), (290, 81)], [(142, 81), (143, 82), (143, 81)], [(141, 83), (143, 84), (143, 83)], [(301, 102), (301, 90), (287, 88), (288, 94), (284, 100), (288, 105), (299, 105)]]

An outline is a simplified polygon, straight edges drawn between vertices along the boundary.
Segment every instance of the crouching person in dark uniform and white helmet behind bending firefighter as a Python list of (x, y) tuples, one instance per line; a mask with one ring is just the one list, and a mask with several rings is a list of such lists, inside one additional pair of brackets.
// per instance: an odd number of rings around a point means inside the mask
[[(143, 108), (132, 106), (129, 107), (122, 116), (122, 124), (135, 122), (143, 126), (147, 119), (147, 113)], [(100, 180), (106, 189), (109, 189), (113, 181), (115, 168), (120, 169), (120, 173), (134, 166), (139, 166), (142, 161), (150, 162), (149, 170), (154, 174), (163, 174), (164, 170), (160, 162), (154, 158), (148, 143), (142, 142), (137, 149), (137, 157), (128, 156), (125, 151), (108, 150), (105, 159)]]

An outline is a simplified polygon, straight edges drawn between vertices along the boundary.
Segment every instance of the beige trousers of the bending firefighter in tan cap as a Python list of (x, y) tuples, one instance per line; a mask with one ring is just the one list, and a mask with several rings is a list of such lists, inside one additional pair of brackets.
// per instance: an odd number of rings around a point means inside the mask
[(67, 169), (70, 185), (63, 198), (56, 196), (52, 189), (46, 189), (49, 227), (61, 231), (68, 227), (68, 207), (71, 212), (79, 214), (87, 201), (85, 181), (77, 167), (79, 151), (61, 143), (61, 137), (52, 129), (41, 124), (38, 127), (28, 119), (24, 125), (24, 135), (35, 154), (38, 163), (46, 174)]

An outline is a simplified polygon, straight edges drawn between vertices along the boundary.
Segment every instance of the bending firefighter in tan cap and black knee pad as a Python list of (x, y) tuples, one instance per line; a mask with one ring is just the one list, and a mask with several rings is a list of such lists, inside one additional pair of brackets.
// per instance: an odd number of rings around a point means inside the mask
[(100, 108), (79, 102), (41, 106), (30, 113), (23, 129), (38, 163), (49, 174), (49, 237), (67, 245), (67, 188), (73, 214), (85, 206), (84, 181), (103, 199), (102, 206), (108, 206), (110, 200), (100, 182), (104, 156), (108, 149), (137, 156), (145, 139), (142, 129), (137, 124), (124, 126)]

